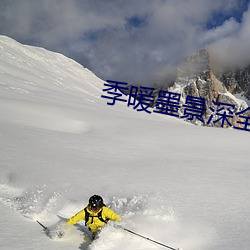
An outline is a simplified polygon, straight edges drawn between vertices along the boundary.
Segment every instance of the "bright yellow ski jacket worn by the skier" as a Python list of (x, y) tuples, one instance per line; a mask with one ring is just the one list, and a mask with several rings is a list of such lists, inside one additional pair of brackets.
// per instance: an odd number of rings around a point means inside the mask
[[(113, 210), (111, 210), (110, 208), (106, 206), (103, 206), (98, 212), (93, 212), (88, 207), (86, 209), (87, 209), (87, 212), (89, 213), (89, 219), (85, 223), (92, 233), (95, 233), (96, 231), (98, 231), (98, 229), (102, 228), (106, 224), (105, 222), (101, 221), (98, 218), (98, 214), (100, 213), (100, 211), (102, 211), (101, 217), (104, 221), (107, 221), (107, 220), (121, 221), (122, 220), (118, 214), (116, 214)], [(84, 209), (78, 212), (77, 214), (75, 214), (74, 216), (72, 216), (67, 221), (67, 224), (74, 225), (80, 220), (85, 220)]]

